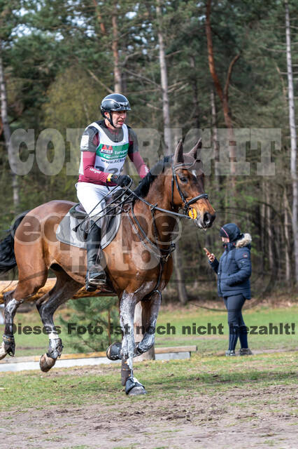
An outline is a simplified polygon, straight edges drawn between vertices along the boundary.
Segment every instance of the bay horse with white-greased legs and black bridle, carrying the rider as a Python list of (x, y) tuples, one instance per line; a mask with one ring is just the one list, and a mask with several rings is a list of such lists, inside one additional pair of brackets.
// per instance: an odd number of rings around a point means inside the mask
[[(177, 219), (188, 214), (201, 229), (211, 227), (215, 219), (215, 210), (204, 193), (201, 161), (197, 159), (200, 145), (199, 141), (183, 154), (180, 141), (174, 155), (159, 161), (139, 187), (130, 191), (134, 201), (122, 210), (115, 239), (104, 249), (108, 287), (119, 298), (123, 333), (122, 344), (112, 344), (107, 356), (126, 361), (127, 394), (146, 393), (134, 377), (133, 358), (148, 351), (155, 341), (161, 292), (173, 271), (171, 251)], [(62, 354), (62, 340), (55, 330), (53, 314), (85, 285), (86, 273), (85, 249), (61, 243), (55, 234), (73, 204), (50, 201), (30, 210), (15, 222), (15, 235), (10, 240), (6, 238), (6, 244), (1, 242), (0, 269), (4, 272), (17, 265), (18, 283), (4, 297), (5, 330), (0, 359), (6, 354), (14, 355), (13, 319), (17, 307), (45, 285), (49, 269), (57, 276), (55, 286), (36, 300), (43, 326), (50, 330), (48, 352), (40, 360), (41, 370), (50, 370)], [(183, 214), (178, 213), (179, 208), (183, 208)], [(139, 301), (146, 332), (136, 345), (134, 309)]]

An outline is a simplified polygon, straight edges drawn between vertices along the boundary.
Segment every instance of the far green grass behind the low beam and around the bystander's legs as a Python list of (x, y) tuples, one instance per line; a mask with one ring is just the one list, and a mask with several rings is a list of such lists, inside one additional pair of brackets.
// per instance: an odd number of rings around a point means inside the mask
[[(57, 312), (57, 314), (59, 313), (64, 314), (65, 312), (62, 310)], [(298, 346), (297, 306), (274, 308), (259, 306), (243, 311), (243, 316), (246, 326), (250, 329), (251, 334), (248, 336), (248, 339), (252, 349), (290, 350)], [(208, 323), (209, 327), (213, 326), (209, 329), (211, 333), (208, 333)], [(47, 349), (47, 335), (42, 333), (41, 335), (33, 335), (32, 333), (25, 335), (23, 332), (24, 326), (31, 326), (31, 328), (41, 326), (37, 311), (32, 311), (28, 314), (17, 314), (15, 324), (17, 329), (18, 326), (22, 327), (20, 335), (15, 333), (16, 356), (41, 355)], [(287, 324), (288, 328), (285, 327)], [(222, 328), (218, 327), (220, 325)], [(205, 326), (206, 329), (199, 328), (200, 326)], [(167, 328), (169, 333), (166, 333)], [(0, 332), (2, 330), (3, 326), (0, 326)], [(222, 335), (219, 333), (219, 330), (222, 331)], [(281, 333), (281, 330), (283, 333)], [(165, 334), (161, 335), (164, 332)], [(206, 333), (204, 334), (204, 332)], [(64, 341), (64, 354), (76, 352), (66, 333), (66, 328), (62, 328), (60, 336)], [(219, 351), (227, 349), (227, 334), (227, 312), (208, 311), (197, 307), (197, 305), (190, 304), (184, 308), (161, 308), (157, 321), (155, 341), (157, 346), (197, 344), (199, 354), (217, 354)], [(120, 340), (119, 335), (115, 335), (115, 340)]]

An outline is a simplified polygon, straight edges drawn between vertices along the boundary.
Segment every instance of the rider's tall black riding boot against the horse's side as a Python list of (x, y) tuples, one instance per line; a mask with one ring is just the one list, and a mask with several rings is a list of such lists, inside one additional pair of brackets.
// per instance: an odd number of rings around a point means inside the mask
[(101, 229), (91, 220), (90, 232), (87, 236), (87, 292), (94, 292), (97, 290), (97, 286), (106, 283), (106, 273), (100, 264), (100, 260), (103, 257), (100, 242)]

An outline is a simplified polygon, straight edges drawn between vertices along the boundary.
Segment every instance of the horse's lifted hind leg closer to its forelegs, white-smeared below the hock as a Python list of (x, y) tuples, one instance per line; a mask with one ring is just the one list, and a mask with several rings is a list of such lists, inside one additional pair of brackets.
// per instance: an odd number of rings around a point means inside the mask
[(39, 365), (41, 370), (46, 372), (55, 365), (55, 362), (62, 354), (62, 340), (59, 338), (57, 329), (53, 321), (53, 314), (59, 305), (69, 300), (82, 286), (73, 281), (65, 272), (57, 272), (57, 282), (50, 293), (41, 297), (36, 303), (36, 307), (41, 315), (43, 326), (49, 332), (48, 352), (41, 356)]

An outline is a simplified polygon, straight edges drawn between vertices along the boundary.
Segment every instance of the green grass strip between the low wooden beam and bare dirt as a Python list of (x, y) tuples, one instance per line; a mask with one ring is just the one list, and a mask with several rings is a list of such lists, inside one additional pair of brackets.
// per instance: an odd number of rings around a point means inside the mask
[[(187, 360), (146, 361), (136, 363), (136, 375), (148, 391), (146, 399), (131, 397), (132, 401), (156, 401), (158, 398), (179, 398), (187, 394), (218, 394), (230, 389), (259, 389), (276, 385), (295, 384), (294, 368), (298, 353), (260, 354), (250, 357), (200, 356)], [(0, 410), (15, 408), (64, 408), (99, 403), (105, 408), (127, 404), (120, 384), (120, 367), (101, 366), (101, 373), (90, 374), (88, 368), (80, 373), (69, 368), (55, 375), (40, 371), (3, 373), (0, 375)], [(260, 398), (262, 401), (262, 398)], [(257, 404), (255, 404), (257, 405)], [(22, 413), (22, 412), (20, 412)]]

